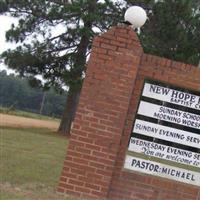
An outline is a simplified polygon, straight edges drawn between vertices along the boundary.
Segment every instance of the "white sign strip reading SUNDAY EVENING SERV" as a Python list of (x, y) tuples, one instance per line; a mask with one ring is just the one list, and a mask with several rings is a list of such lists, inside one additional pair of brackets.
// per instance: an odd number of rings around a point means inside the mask
[(133, 132), (191, 147), (200, 147), (200, 134), (194, 134), (139, 119), (135, 121)]

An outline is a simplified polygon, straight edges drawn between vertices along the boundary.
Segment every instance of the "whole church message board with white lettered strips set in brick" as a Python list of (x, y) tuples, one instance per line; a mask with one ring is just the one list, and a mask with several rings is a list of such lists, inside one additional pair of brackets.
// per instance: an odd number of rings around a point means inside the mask
[(146, 80), (124, 168), (200, 185), (200, 93)]

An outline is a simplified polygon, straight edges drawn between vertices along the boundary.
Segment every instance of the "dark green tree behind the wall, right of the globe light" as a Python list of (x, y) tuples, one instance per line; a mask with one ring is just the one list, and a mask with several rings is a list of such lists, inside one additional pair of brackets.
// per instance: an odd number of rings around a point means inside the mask
[(200, 1), (166, 0), (151, 5), (140, 38), (147, 53), (198, 65)]

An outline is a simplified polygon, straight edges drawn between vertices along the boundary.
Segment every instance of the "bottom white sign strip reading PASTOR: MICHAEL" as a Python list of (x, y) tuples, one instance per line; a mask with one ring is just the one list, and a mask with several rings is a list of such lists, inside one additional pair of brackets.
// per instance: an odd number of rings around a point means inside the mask
[(127, 155), (124, 168), (200, 186), (200, 173), (159, 162)]

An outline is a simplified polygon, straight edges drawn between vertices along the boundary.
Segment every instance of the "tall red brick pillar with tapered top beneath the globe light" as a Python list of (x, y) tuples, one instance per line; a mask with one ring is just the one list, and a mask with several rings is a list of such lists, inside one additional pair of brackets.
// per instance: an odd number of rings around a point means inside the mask
[(95, 38), (59, 192), (107, 197), (142, 54), (130, 27)]

